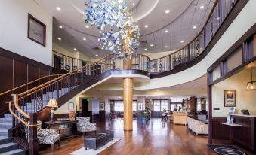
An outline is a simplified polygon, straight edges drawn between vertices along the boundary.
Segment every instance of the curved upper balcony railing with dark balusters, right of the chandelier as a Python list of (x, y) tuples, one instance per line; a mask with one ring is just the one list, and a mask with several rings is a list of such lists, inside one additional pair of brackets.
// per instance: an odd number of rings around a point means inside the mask
[(196, 59), (208, 46), (236, 2), (237, 0), (216, 1), (205, 26), (196, 38), (168, 56), (150, 60), (150, 74), (171, 71)]

